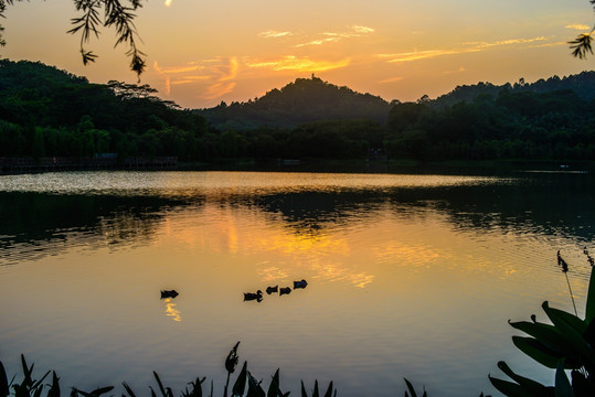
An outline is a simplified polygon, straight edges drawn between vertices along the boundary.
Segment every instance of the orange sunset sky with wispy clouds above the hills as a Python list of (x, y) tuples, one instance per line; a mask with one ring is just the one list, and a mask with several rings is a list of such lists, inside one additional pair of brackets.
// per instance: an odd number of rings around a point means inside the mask
[[(136, 83), (126, 49), (103, 30), (83, 66), (71, 0), (17, 3), (0, 21), (2, 57), (41, 61), (91, 82)], [(566, 44), (588, 32), (587, 0), (149, 0), (138, 11), (142, 84), (184, 108), (246, 101), (315, 73), (386, 100), (435, 98), (457, 85), (514, 83), (595, 68)]]

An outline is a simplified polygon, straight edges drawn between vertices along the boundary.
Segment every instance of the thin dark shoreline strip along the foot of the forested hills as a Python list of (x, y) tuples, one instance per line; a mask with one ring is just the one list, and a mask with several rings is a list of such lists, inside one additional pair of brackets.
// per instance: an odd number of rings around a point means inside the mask
[(560, 160), (332, 160), (332, 159), (217, 159), (211, 162), (181, 162), (173, 157), (126, 159), (125, 162), (102, 159), (65, 161), (64, 159), (0, 159), (0, 174), (64, 171), (269, 171), (269, 172), (347, 172), (414, 174), (511, 174), (517, 172), (593, 173), (595, 161)]

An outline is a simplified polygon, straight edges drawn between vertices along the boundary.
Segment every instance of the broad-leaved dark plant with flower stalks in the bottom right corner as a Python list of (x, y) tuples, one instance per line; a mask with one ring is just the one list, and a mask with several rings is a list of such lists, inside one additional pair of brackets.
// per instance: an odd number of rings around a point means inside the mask
[[(586, 248), (584, 254), (591, 258)], [(557, 257), (560, 264), (562, 259), (560, 253)], [(567, 267), (563, 267), (564, 273), (566, 270)], [(593, 347), (595, 346), (595, 267), (591, 268), (584, 319), (576, 313), (550, 308), (548, 301), (541, 307), (552, 324), (538, 322), (534, 314), (531, 315), (531, 322), (509, 322), (511, 326), (529, 335), (512, 336), (512, 342), (539, 364), (555, 369), (555, 385), (544, 386), (520, 376), (504, 362), (499, 362), (498, 367), (514, 382), (489, 376), (491, 384), (509, 397), (595, 396), (595, 350)], [(566, 369), (571, 371), (571, 379), (564, 372)]]

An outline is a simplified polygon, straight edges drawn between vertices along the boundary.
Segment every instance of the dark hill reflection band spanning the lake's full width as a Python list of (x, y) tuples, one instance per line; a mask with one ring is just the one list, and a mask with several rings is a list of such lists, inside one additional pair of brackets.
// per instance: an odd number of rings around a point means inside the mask
[[(0, 193), (0, 259), (14, 262), (19, 255), (44, 255), (45, 250), (60, 250), (61, 246), (147, 244), (155, 238), (168, 210), (195, 211), (196, 205), (210, 202), (276, 213), (296, 233), (306, 234), (337, 223), (372, 219), (375, 212), (389, 208), (402, 216), (425, 216), (425, 211), (436, 211), (460, 228), (497, 227), (510, 233), (591, 240), (595, 224), (593, 180), (589, 175), (540, 175), (508, 184), (326, 189), (192, 200)], [(29, 249), (11, 249), (14, 246)]]

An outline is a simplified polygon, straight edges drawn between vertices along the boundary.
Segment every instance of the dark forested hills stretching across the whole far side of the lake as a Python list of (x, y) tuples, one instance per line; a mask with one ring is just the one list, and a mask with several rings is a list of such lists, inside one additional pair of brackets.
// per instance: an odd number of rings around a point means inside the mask
[(386, 103), (312, 75), (180, 109), (147, 85), (0, 60), (0, 158), (595, 160), (595, 72)]

